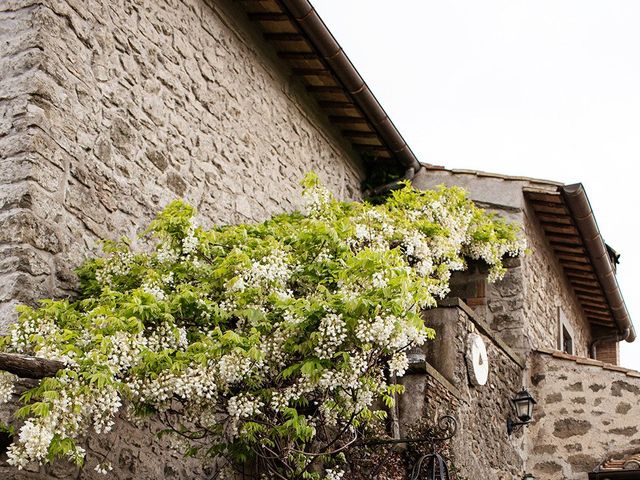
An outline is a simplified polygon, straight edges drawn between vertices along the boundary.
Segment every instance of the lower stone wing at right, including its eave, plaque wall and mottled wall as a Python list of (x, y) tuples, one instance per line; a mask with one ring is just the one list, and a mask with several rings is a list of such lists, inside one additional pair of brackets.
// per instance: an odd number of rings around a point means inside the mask
[[(404, 380), (425, 392), (423, 403), (401, 400), (400, 417), (403, 406), (408, 424), (453, 413), (457, 461), (469, 478), (586, 480), (608, 459), (640, 452), (640, 373), (618, 366), (619, 342), (633, 341), (635, 330), (615, 280), (618, 255), (582, 186), (434, 166), (413, 183), (464, 187), (477, 204), (520, 222), (530, 252), (495, 284), (483, 265), (452, 279), (452, 298), (427, 312), (439, 338), (426, 367), (419, 358)], [(486, 385), (473, 381), (470, 333), (486, 345)], [(509, 436), (509, 400), (522, 386), (538, 402), (535, 420)]]

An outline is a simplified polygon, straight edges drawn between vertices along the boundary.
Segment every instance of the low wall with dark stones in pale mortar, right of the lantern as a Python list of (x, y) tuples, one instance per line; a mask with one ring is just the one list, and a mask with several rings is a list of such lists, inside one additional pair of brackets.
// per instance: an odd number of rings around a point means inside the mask
[(585, 480), (607, 458), (640, 452), (639, 372), (551, 350), (530, 362), (527, 465), (538, 480)]

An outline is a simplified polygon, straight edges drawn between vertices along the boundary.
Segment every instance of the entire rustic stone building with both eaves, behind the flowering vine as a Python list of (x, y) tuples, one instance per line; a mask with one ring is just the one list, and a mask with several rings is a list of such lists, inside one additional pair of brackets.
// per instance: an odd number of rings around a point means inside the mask
[[(170, 200), (203, 222), (259, 221), (295, 209), (310, 170), (341, 199), (399, 177), (461, 185), (525, 227), (531, 254), (504, 281), (472, 265), (428, 313), (439, 340), (404, 380), (396, 433), (454, 414), (470, 479), (586, 480), (640, 451), (640, 374), (616, 366), (635, 332), (579, 188), (421, 165), (306, 0), (0, 2), (0, 326), (18, 303), (72, 295), (101, 239), (134, 236)], [(477, 337), (486, 385), (469, 373)], [(522, 385), (536, 419), (508, 436)], [(153, 429), (121, 421), (90, 454), (109, 452), (113, 478), (206, 477)], [(0, 456), (1, 478), (72, 475)]]

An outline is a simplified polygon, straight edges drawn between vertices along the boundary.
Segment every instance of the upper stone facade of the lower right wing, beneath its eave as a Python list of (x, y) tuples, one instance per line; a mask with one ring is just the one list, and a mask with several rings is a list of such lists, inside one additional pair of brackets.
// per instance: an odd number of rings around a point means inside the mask
[(505, 278), (490, 284), (486, 280), (486, 269), (472, 264), (469, 271), (452, 279), (454, 296), (463, 298), (522, 355), (538, 347), (558, 348), (562, 319), (574, 337), (574, 353), (588, 356), (589, 322), (523, 194), (524, 188), (555, 188), (557, 184), (448, 170), (421, 171), (414, 184), (418, 188), (434, 188), (440, 184), (461, 186), (481, 207), (523, 226), (529, 252), (508, 261)]

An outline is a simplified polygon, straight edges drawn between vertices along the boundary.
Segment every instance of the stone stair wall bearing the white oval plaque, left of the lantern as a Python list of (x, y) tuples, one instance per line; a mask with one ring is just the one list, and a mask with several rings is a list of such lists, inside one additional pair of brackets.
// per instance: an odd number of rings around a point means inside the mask
[[(452, 414), (459, 426), (452, 450), (463, 478), (520, 478), (524, 440), (522, 433), (509, 438), (506, 422), (512, 415), (509, 399), (522, 387), (523, 361), (458, 300), (427, 312), (426, 323), (438, 337), (424, 349), (425, 373), (412, 373), (402, 380), (407, 390), (399, 402), (401, 432), (421, 417), (433, 422)], [(489, 379), (484, 386), (469, 381), (466, 340), (470, 332), (481, 334), (487, 346)]]

